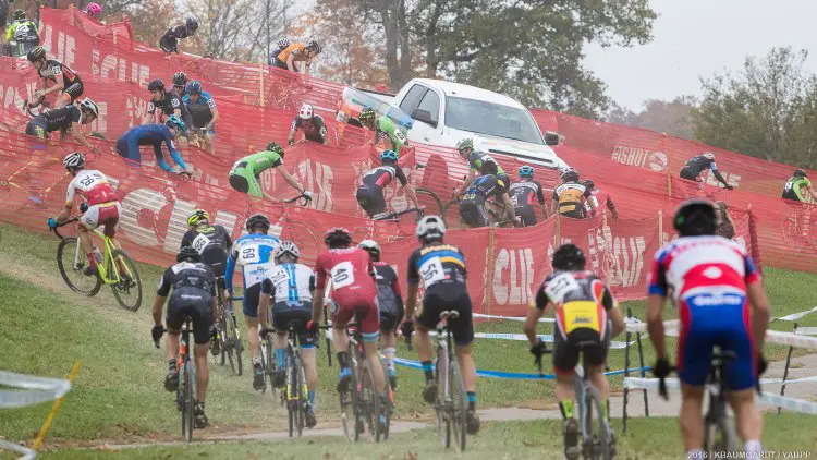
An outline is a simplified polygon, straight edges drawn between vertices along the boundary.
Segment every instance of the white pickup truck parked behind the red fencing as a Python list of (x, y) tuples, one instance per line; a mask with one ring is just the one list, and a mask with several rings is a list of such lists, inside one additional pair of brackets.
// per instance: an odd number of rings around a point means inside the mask
[[(542, 135), (531, 112), (501, 94), (429, 78), (412, 80), (395, 96), (364, 93), (377, 99), (380, 102), (377, 105), (398, 107), (414, 120), (408, 131), (410, 143), (454, 147), (461, 140), (472, 137), (477, 150), (547, 168), (566, 166), (550, 147), (559, 144), (559, 135), (549, 132)], [(355, 107), (359, 104), (343, 102), (341, 111), (345, 113), (339, 113), (339, 119), (359, 112), (361, 107)]]

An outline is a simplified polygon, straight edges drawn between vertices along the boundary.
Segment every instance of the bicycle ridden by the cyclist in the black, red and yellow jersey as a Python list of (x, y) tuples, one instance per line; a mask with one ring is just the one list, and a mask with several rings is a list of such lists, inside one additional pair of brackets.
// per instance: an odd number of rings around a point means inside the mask
[[(573, 378), (573, 385), (576, 392), (578, 426), (582, 434), (582, 457), (594, 460), (610, 460), (615, 456), (615, 437), (610, 427), (610, 422), (602, 415), (605, 412), (601, 409), (603, 404), (601, 392), (593, 385), (585, 371), (588, 368), (585, 349), (587, 347), (598, 347), (598, 342), (592, 340), (576, 342), (575, 346), (578, 352), (582, 353), (582, 365), (575, 368), (576, 375)], [(545, 352), (552, 353), (553, 350), (545, 349)], [(541, 356), (537, 358), (536, 364), (539, 366), (539, 374), (541, 375)], [(596, 431), (593, 427), (594, 411), (598, 415)], [(578, 452), (573, 452), (568, 458), (577, 459)]]

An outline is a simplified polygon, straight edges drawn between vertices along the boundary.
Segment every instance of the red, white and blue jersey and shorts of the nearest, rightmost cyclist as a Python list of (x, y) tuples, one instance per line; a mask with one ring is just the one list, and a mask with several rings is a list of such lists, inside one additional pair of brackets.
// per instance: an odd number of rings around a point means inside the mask
[(727, 385), (740, 390), (755, 385), (755, 348), (746, 287), (760, 281), (752, 257), (721, 237), (681, 237), (656, 253), (649, 294), (671, 296), (679, 307), (681, 330), (678, 375), (704, 385), (714, 346), (736, 359), (727, 367)]

